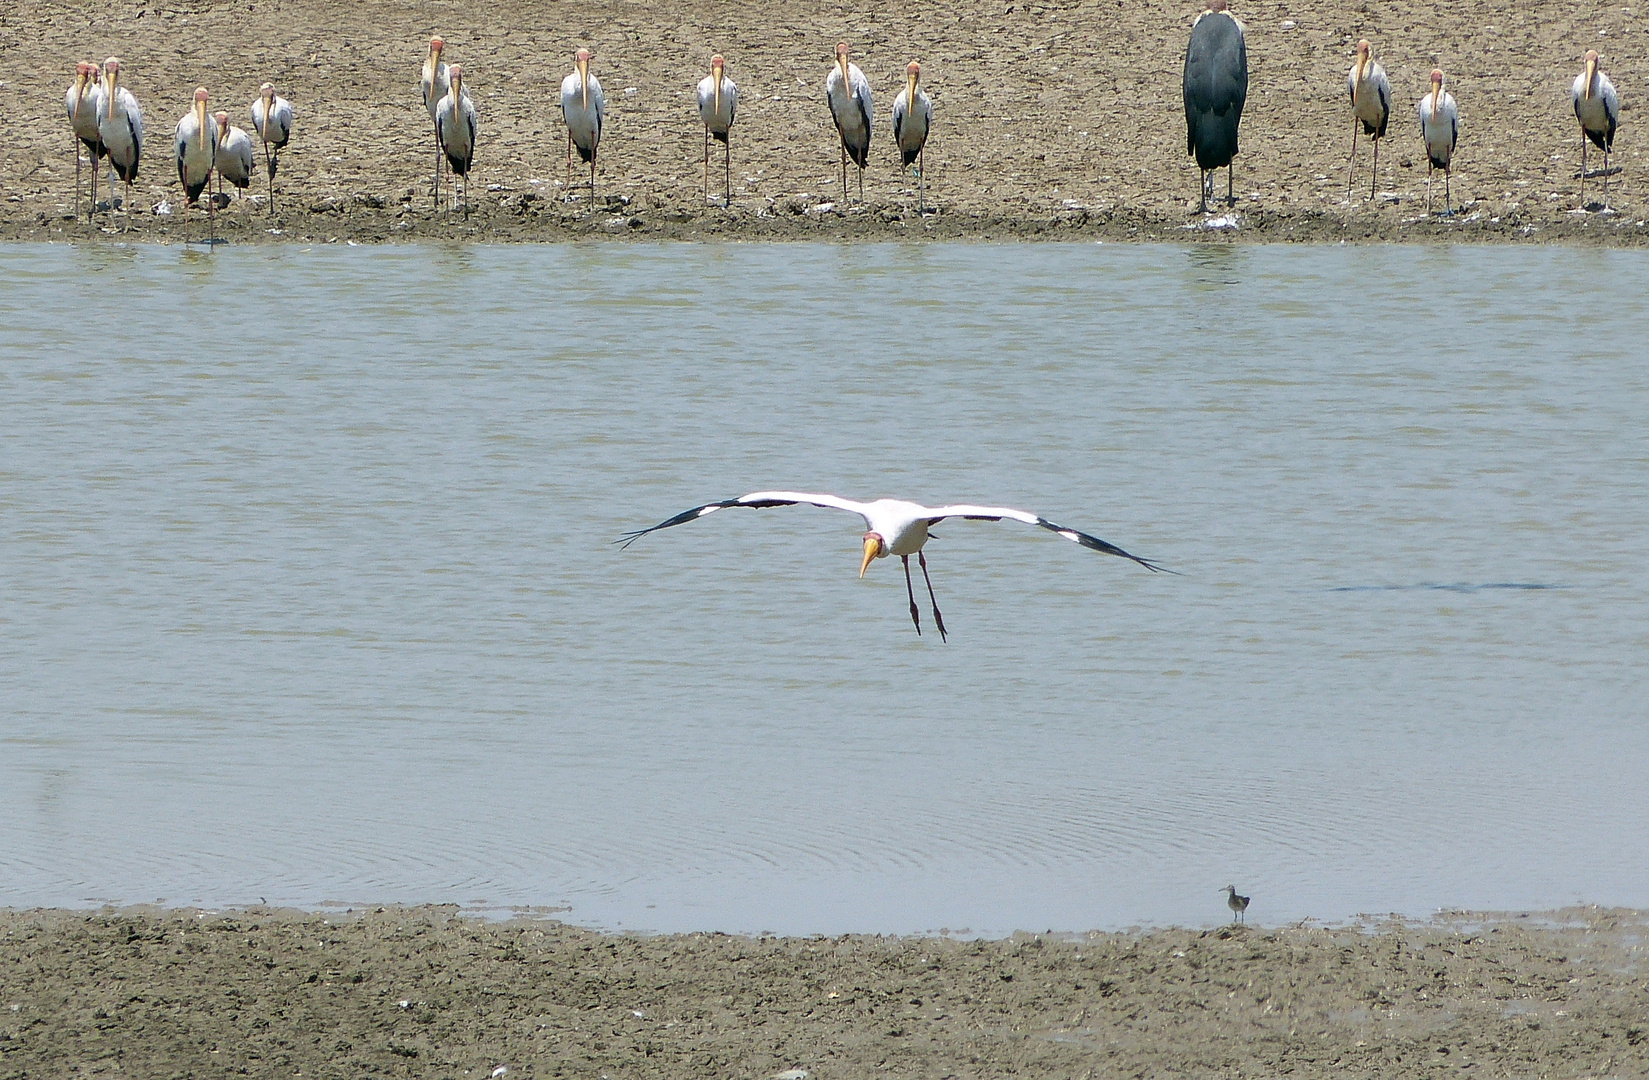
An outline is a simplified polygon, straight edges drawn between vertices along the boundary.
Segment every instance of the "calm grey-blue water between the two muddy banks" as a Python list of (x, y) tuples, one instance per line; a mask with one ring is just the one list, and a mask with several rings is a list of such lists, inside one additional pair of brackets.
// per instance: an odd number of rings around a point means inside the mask
[[(1649, 907), (1646, 252), (0, 270), (0, 905)], [(610, 544), (770, 486), (1024, 506), (1182, 575), (947, 523), (942, 645), (848, 514)]]

